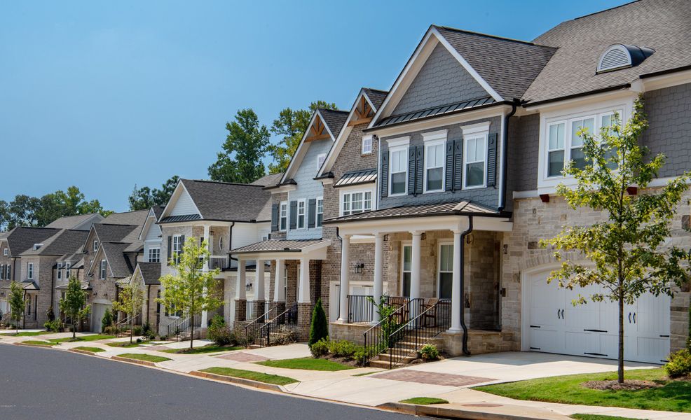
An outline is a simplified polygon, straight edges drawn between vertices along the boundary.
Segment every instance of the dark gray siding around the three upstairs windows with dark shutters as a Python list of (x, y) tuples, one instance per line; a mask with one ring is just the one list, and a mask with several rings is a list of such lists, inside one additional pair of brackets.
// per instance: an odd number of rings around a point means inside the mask
[[(396, 139), (399, 137), (410, 136), (410, 146), (421, 146), (424, 144), (423, 133), (424, 132), (435, 132), (438, 130), (449, 130), (447, 134), (447, 139), (460, 139), (463, 137), (463, 130), (460, 130), (461, 125), (471, 125), (477, 123), (484, 123), (485, 121), (490, 122), (489, 132), (498, 133), (498, 139), (501, 139), (501, 118), (493, 117), (484, 120), (474, 120), (468, 121), (467, 123), (456, 123), (453, 125), (445, 125), (442, 127), (435, 127), (430, 130), (424, 130), (419, 132), (409, 132), (406, 134), (397, 134), (391, 137), (382, 137), (381, 139), (381, 153), (388, 153), (388, 144), (385, 140)], [(500, 151), (497, 149), (497, 158), (500, 158)], [(380, 168), (381, 170), (381, 168)], [(428, 204), (428, 203), (438, 203), (438, 202), (451, 202), (460, 200), (470, 200), (478, 204), (484, 204), (485, 206), (496, 208), (498, 206), (499, 197), (499, 178), (500, 173), (497, 173), (497, 183), (494, 187), (479, 188), (473, 190), (460, 190), (456, 192), (444, 191), (442, 193), (428, 193), (428, 194), (418, 194), (413, 195), (401, 195), (397, 197), (381, 197), (381, 191), (377, 191), (379, 194), (380, 209), (388, 209), (390, 207), (397, 207), (402, 205), (414, 205), (414, 204)], [(510, 198), (510, 197), (509, 197)]]

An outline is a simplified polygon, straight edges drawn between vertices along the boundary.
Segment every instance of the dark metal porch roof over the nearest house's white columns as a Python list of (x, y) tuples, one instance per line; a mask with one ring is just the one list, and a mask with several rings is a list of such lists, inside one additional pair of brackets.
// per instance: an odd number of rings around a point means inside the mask
[(390, 209), (365, 211), (364, 213), (350, 214), (330, 218), (324, 221), (328, 223), (340, 223), (350, 221), (369, 221), (386, 218), (410, 218), (410, 217), (430, 217), (430, 216), (486, 216), (486, 217), (508, 217), (506, 213), (500, 213), (494, 209), (489, 209), (481, 204), (463, 200), (460, 202), (419, 204), (416, 206), (399, 206)]

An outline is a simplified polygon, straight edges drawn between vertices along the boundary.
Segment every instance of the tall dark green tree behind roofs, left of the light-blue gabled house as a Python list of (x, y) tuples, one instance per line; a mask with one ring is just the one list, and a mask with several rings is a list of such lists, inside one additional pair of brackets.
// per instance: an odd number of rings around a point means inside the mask
[(270, 134), (252, 109), (241, 109), (235, 121), (226, 123), (228, 136), (217, 161), (209, 167), (212, 181), (251, 183), (264, 176), (266, 148)]

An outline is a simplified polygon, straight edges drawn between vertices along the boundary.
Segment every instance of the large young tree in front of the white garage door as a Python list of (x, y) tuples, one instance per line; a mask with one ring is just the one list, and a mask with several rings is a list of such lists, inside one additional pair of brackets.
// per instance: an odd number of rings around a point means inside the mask
[[(624, 127), (614, 116), (610, 127), (603, 127), (598, 137), (581, 130), (584, 164), (571, 162), (564, 170), (577, 181), (575, 186), (557, 187), (572, 209), (588, 207), (601, 211), (606, 220), (589, 226), (565, 226), (552, 239), (558, 260), (565, 251), (580, 251), (594, 263), (564, 260), (550, 274), (548, 281), (559, 286), (601, 286), (601, 293), (579, 295), (573, 304), (587, 300), (617, 302), (619, 305), (619, 375), (624, 381), (624, 304), (634, 303), (643, 293), (673, 295), (673, 286), (688, 279), (689, 253), (675, 246), (664, 246), (670, 237), (669, 222), (687, 190), (689, 174), (669, 181), (659, 190), (646, 190), (664, 165), (660, 154), (646, 162), (648, 148), (639, 146), (641, 134), (648, 127), (643, 102), (636, 101), (635, 112)], [(629, 195), (629, 187), (638, 188)]]

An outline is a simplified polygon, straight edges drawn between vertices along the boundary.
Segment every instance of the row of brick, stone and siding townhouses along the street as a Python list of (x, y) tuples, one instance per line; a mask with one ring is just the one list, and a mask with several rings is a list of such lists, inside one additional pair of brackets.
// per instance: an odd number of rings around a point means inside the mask
[[(220, 270), (229, 323), (285, 315), (306, 339), (321, 299), (331, 337), (362, 343), (378, 322), (367, 297), (385, 296), (451, 356), (616, 358), (616, 304), (574, 306), (596, 288), (548, 284), (558, 262), (539, 241), (601, 220), (568, 208), (556, 186), (574, 182), (561, 173), (568, 162), (582, 162), (576, 133), (614, 113), (625, 123), (638, 97), (643, 144), (666, 155), (650, 188), (691, 170), (688, 22), (686, 1), (643, 0), (529, 42), (432, 26), (390, 90), (362, 88), (348, 110), (315, 111), (285, 173), (252, 185), (184, 179), (165, 208), (90, 228), (17, 228), (0, 237), (0, 265), (11, 267), (2, 278), (25, 285), (29, 326), (76, 270), (94, 330), (118, 285), (135, 281), (146, 288), (142, 321), (165, 335), (181, 320), (156, 304), (158, 278), (194, 237), (208, 239), (205, 269)], [(670, 245), (691, 246), (690, 216), (684, 200)], [(627, 306), (627, 360), (660, 363), (683, 347), (689, 289), (676, 292)]]

